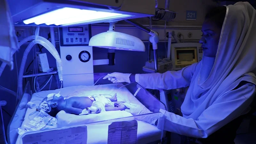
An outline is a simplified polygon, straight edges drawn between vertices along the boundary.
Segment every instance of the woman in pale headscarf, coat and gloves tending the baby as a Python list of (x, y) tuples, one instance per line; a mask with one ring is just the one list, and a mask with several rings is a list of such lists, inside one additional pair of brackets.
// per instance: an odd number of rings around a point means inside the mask
[[(183, 117), (163, 109), (158, 128), (198, 138), (201, 143), (234, 143), (242, 116), (256, 92), (256, 20), (248, 2), (211, 10), (202, 26), (202, 61), (163, 74), (112, 73), (113, 83), (137, 82), (148, 89), (189, 86), (181, 106)], [(133, 115), (143, 106), (127, 104)], [(145, 111), (148, 113), (148, 111)], [(164, 123), (160, 120), (164, 119)]]

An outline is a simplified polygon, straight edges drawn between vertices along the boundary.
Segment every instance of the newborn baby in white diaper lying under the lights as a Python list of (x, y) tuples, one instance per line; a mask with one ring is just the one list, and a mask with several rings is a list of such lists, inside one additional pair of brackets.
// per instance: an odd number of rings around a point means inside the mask
[(36, 111), (44, 110), (49, 115), (55, 117), (61, 110), (75, 115), (88, 115), (92, 112), (124, 110), (126, 106), (121, 105), (122, 101), (117, 101), (116, 94), (111, 98), (104, 95), (95, 94), (92, 96), (71, 97), (65, 99), (60, 94), (49, 94)]

